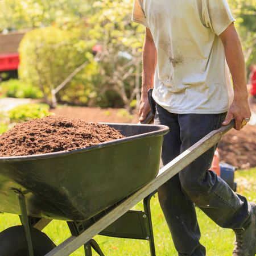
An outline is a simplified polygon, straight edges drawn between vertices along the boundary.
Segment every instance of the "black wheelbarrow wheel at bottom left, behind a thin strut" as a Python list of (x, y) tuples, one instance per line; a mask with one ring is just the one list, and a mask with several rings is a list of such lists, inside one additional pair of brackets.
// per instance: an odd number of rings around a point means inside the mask
[[(34, 256), (43, 256), (56, 245), (51, 239), (38, 229), (31, 228)], [(27, 239), (23, 226), (13, 226), (0, 233), (1, 256), (28, 255)]]

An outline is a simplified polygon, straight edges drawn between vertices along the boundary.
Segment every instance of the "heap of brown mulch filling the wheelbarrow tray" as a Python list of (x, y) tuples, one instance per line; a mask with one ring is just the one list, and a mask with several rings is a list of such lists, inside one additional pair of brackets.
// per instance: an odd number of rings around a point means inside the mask
[(0, 135), (0, 156), (71, 151), (123, 137), (108, 125), (50, 115), (19, 123)]

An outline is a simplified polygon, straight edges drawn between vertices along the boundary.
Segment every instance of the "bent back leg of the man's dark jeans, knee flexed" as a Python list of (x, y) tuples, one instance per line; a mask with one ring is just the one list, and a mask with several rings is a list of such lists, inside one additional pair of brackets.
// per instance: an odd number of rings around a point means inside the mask
[[(181, 152), (187, 150), (210, 131), (218, 129), (224, 114), (179, 115)], [(249, 204), (237, 195), (214, 172), (208, 171), (216, 146), (210, 148), (179, 173), (181, 187), (191, 200), (223, 228), (241, 228), (250, 221)]]

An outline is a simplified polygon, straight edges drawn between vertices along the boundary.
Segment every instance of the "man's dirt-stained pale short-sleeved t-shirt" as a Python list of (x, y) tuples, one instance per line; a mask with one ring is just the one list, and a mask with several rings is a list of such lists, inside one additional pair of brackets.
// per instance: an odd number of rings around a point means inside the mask
[(132, 19), (157, 50), (154, 100), (171, 113), (224, 113), (233, 88), (218, 37), (234, 22), (226, 0), (135, 0)]

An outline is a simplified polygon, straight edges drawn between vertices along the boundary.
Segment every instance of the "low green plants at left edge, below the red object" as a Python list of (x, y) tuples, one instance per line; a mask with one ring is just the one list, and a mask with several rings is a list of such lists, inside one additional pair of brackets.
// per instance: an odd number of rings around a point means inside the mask
[(36, 86), (26, 84), (20, 80), (11, 79), (1, 82), (0, 95), (14, 98), (42, 98), (43, 94)]

